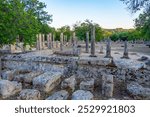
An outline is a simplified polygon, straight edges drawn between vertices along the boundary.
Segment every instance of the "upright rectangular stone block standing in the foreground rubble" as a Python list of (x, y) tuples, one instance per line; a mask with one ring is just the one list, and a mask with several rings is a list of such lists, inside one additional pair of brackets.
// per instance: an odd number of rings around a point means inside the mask
[(102, 95), (108, 98), (113, 97), (113, 75), (102, 76)]

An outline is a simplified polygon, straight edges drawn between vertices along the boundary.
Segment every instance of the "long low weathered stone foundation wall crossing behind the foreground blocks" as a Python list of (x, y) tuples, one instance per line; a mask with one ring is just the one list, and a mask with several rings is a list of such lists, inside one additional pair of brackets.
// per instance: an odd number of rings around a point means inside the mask
[(148, 69), (117, 66), (112, 59), (106, 58), (60, 56), (23, 58), (19, 55), (13, 55), (2, 58), (2, 69), (61, 72), (64, 79), (74, 75), (78, 86), (82, 81), (94, 79), (94, 86), (99, 87), (100, 91), (102, 91), (103, 75), (113, 75), (113, 95), (115, 97), (118, 94), (126, 93), (127, 86), (131, 82), (137, 82), (143, 87), (150, 88), (150, 72)]

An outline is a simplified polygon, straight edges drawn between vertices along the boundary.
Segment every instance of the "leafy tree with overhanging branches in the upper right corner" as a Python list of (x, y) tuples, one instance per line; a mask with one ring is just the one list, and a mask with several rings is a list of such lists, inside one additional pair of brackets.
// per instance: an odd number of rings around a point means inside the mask
[(138, 10), (144, 9), (143, 13), (135, 19), (135, 26), (140, 35), (146, 39), (150, 40), (150, 0), (121, 0), (128, 5), (128, 8), (132, 13)]

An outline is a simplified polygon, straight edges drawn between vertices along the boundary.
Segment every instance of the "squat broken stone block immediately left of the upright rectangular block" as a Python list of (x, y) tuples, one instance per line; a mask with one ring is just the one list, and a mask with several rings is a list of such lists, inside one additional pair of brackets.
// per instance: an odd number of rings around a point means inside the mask
[(94, 79), (89, 81), (82, 81), (80, 83), (80, 90), (92, 91), (94, 90)]

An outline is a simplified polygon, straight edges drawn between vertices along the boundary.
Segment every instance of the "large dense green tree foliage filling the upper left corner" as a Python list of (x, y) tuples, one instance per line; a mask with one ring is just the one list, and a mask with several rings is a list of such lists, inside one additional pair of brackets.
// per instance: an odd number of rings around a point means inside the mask
[(33, 45), (36, 34), (50, 32), (52, 16), (38, 0), (0, 0), (0, 45), (12, 44), (19, 37), (24, 45)]

